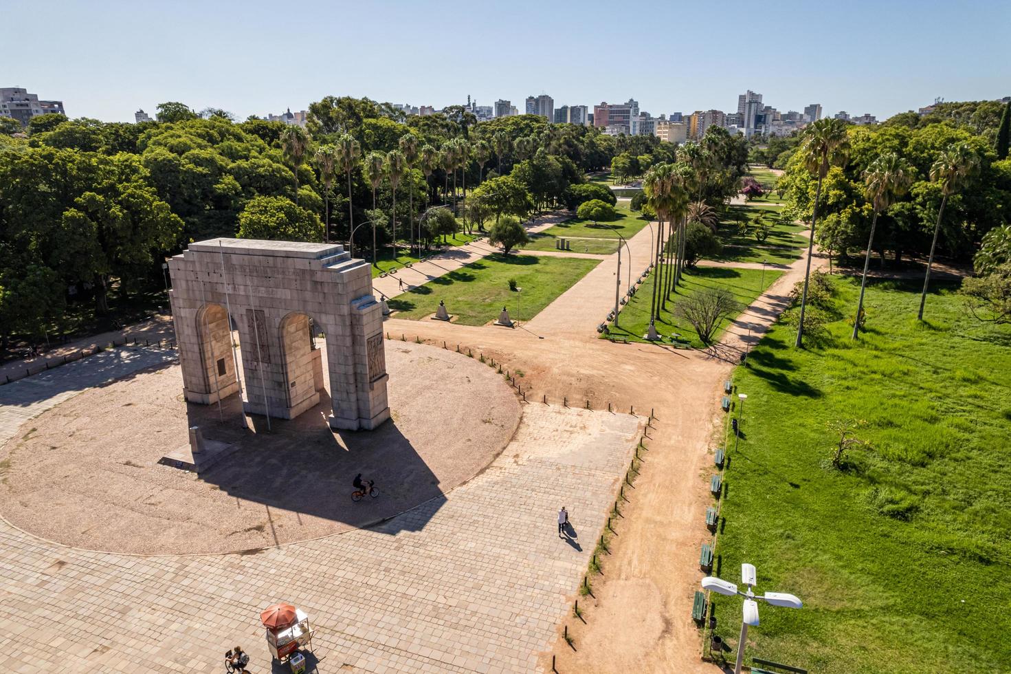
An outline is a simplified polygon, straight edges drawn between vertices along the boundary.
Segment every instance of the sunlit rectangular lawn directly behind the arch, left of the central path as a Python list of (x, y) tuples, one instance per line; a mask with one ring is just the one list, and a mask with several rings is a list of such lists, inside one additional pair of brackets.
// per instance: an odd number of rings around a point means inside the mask
[[(595, 267), (598, 260), (493, 253), (434, 278), (389, 301), (396, 318), (423, 319), (439, 301), (463, 325), (484, 325), (509, 308), (515, 321), (529, 321)], [(510, 290), (509, 279), (522, 288)]]

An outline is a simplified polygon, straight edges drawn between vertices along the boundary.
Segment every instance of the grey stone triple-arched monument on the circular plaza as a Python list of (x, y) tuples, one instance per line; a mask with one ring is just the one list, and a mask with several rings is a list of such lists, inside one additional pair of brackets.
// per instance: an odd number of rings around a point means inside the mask
[(238, 330), (245, 410), (295, 418), (319, 403), (323, 332), (331, 427), (373, 429), (389, 418), (382, 308), (367, 262), (335, 244), (211, 239), (169, 269), (187, 401), (211, 405), (240, 391)]

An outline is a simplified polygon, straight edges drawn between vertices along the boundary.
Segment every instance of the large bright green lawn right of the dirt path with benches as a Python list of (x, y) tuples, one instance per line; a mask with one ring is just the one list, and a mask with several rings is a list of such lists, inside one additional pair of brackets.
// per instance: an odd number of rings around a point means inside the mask
[[(834, 284), (827, 341), (797, 350), (777, 324), (735, 372), (748, 400), (719, 575), (738, 582), (748, 562), (759, 591), (805, 603), (761, 606), (748, 657), (825, 674), (1008, 671), (1011, 326), (978, 323), (950, 288), (918, 324), (919, 282), (883, 282), (852, 342), (858, 281)], [(840, 471), (827, 423), (852, 419), (867, 445)], [(740, 604), (716, 599), (734, 650)]]

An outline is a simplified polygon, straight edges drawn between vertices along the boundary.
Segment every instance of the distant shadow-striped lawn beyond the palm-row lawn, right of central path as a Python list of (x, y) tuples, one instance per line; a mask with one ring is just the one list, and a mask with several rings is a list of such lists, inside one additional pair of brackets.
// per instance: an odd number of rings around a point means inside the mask
[(736, 220), (740, 217), (754, 222), (757, 218), (770, 221), (770, 216), (777, 214), (779, 206), (769, 204), (749, 203), (730, 206), (727, 217), (717, 228), (717, 235), (723, 243), (723, 252), (715, 259), (723, 262), (771, 262), (774, 264), (790, 264), (801, 257), (808, 245), (808, 240), (799, 236), (805, 228), (793, 223), (775, 223), (764, 241), (758, 241), (753, 234), (741, 236), (738, 233)]

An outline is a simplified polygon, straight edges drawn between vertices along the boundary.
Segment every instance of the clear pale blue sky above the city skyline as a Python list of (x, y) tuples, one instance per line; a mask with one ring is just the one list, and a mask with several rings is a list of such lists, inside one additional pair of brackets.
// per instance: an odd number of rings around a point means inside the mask
[(654, 115), (820, 102), (880, 118), (1011, 95), (1011, 2), (0, 0), (0, 86), (129, 120), (165, 100), (240, 118), (327, 94), (490, 105), (635, 97)]

